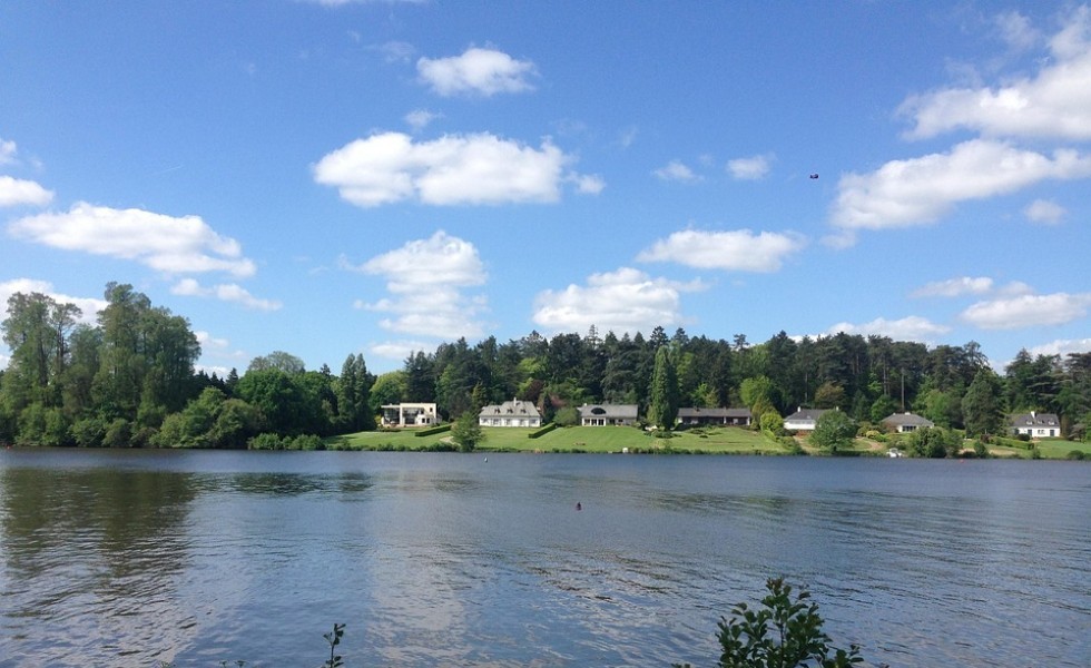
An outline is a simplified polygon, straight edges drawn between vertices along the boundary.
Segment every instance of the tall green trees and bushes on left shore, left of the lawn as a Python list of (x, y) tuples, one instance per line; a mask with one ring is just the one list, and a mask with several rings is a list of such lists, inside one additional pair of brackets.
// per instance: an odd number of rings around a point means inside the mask
[(304, 436), (374, 429), (374, 376), (350, 355), (341, 376), (287, 353), (255, 358), (242, 377), (195, 372), (189, 322), (131, 285), (106, 286), (97, 325), (41, 293), (8, 299), (0, 372), (0, 442), (24, 445), (283, 446)]

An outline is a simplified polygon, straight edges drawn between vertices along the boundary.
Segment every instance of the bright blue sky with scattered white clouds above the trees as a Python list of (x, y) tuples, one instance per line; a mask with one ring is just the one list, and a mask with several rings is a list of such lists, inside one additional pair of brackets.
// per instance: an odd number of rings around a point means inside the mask
[(1091, 8), (14, 0), (0, 226), (0, 298), (130, 283), (220, 373), (592, 324), (1084, 352)]

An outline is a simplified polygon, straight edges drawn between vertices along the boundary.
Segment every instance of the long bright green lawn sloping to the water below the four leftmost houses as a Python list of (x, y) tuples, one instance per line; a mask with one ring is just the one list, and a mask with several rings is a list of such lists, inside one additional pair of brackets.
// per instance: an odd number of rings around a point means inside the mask
[[(738, 428), (716, 428), (676, 432), (672, 439), (657, 439), (631, 426), (569, 426), (554, 429), (538, 438), (535, 430), (482, 428), (485, 440), (481, 451), (513, 452), (708, 452), (745, 454), (786, 454), (787, 450), (758, 432)], [(411, 430), (402, 432), (361, 432), (326, 439), (326, 446), (337, 450), (426, 450), (450, 439), (449, 433), (417, 438)]]

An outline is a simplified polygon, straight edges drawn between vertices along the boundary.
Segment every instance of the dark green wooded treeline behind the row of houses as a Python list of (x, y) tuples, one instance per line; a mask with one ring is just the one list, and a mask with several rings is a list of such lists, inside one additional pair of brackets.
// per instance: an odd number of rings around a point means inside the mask
[[(657, 356), (669, 360), (667, 389)], [(743, 334), (726, 341), (680, 328), (668, 336), (656, 327), (647, 338), (600, 337), (591, 327), (587, 335), (532, 332), (504, 344), (490, 337), (470, 346), (460, 338), (410, 356), (402, 371), (379, 376), (372, 392), (384, 402), (435, 401), (450, 415), (518, 397), (561, 421), (562, 411), (583, 403), (638, 404), (656, 423), (657, 389), (676, 406), (746, 406), (782, 416), (838, 407), (873, 423), (913, 411), (972, 434), (1001, 432), (1011, 413), (1052, 412), (1068, 433), (1091, 412), (1091, 353), (1062, 358), (1021, 351), (999, 375), (975, 342), (928, 348), (886, 336), (796, 340), (780, 332), (751, 345)]]

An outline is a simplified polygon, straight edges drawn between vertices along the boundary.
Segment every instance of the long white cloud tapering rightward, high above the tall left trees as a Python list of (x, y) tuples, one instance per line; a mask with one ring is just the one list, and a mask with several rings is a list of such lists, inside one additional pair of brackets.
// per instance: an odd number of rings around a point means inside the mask
[(198, 216), (178, 218), (80, 202), (68, 212), (20, 218), (8, 232), (55, 248), (132, 259), (168, 274), (250, 276), (256, 271), (238, 242), (217, 234)]

